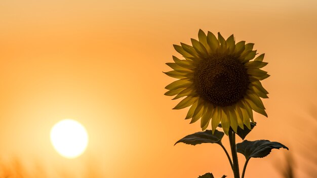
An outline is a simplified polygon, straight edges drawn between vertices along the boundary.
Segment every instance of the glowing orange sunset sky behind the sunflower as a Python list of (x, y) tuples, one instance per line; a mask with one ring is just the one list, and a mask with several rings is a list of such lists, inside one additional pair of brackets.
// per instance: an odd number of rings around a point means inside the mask
[[(174, 79), (162, 71), (172, 55), (181, 57), (173, 44), (190, 44), (199, 29), (255, 43), (269, 63), (268, 117), (254, 113), (257, 126), (246, 139), (289, 151), (251, 159), (246, 177), (282, 177), (285, 155), (298, 177), (317, 176), (313, 0), (2, 0), (0, 165), (46, 177), (233, 177), (218, 145), (174, 146), (201, 128), (184, 120), (188, 109), (172, 110), (179, 101), (164, 87)], [(75, 159), (50, 143), (50, 129), (65, 118), (89, 134)], [(242, 168), (243, 155), (239, 161)]]

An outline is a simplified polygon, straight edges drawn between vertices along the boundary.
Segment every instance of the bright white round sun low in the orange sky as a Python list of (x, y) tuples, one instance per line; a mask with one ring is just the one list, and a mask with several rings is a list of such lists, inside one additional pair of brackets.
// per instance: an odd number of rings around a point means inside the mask
[(64, 119), (52, 127), (51, 142), (59, 154), (66, 158), (75, 158), (86, 150), (88, 134), (81, 123)]

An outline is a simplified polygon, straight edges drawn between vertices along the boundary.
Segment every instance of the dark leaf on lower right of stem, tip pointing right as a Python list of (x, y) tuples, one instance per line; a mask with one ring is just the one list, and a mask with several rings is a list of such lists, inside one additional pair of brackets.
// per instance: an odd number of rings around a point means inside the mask
[(243, 141), (236, 144), (236, 151), (245, 155), (246, 159), (263, 158), (270, 154), (272, 149), (288, 148), (279, 142), (270, 142), (268, 140)]

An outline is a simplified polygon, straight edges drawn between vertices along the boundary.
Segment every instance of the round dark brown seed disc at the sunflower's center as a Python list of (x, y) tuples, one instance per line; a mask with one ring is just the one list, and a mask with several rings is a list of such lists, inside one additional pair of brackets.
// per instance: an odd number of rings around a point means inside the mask
[(197, 93), (216, 106), (241, 100), (250, 83), (247, 69), (236, 57), (214, 55), (203, 59), (194, 71)]

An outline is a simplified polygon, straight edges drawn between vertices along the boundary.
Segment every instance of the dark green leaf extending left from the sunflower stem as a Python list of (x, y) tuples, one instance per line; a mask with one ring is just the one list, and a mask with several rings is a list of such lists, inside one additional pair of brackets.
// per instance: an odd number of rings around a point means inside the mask
[(216, 143), (221, 145), (221, 139), (224, 136), (224, 133), (222, 131), (215, 130), (214, 134), (212, 133), (212, 130), (205, 130), (193, 133), (191, 135), (188, 135), (181, 140), (177, 141), (175, 143), (178, 144), (180, 142), (189, 144), (189, 145), (197, 145), (197, 144), (203, 144), (203, 143)]

